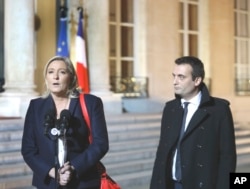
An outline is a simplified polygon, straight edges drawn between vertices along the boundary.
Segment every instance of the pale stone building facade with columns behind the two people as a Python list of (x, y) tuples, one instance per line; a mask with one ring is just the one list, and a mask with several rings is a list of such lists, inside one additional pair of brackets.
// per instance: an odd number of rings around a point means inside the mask
[[(0, 93), (0, 104), (4, 105), (0, 106), (1, 114), (6, 110), (6, 106), (13, 106), (7, 105), (8, 101), (14, 103), (15, 100), (17, 104), (21, 104), (24, 102), (23, 97), (29, 99), (42, 93), (43, 67), (56, 51), (54, 1), (37, 0), (36, 4), (33, 0), (5, 2), (6, 91)], [(121, 113), (122, 98), (112, 93), (109, 85), (109, 1), (68, 2), (71, 58), (74, 60), (76, 9), (77, 6), (84, 6), (87, 18), (91, 93), (103, 99), (107, 112)], [(249, 96), (237, 96), (234, 91), (233, 3), (228, 0), (200, 0), (199, 58), (204, 61), (206, 75), (211, 80), (211, 94), (231, 102), (235, 121), (249, 122), (250, 117), (247, 116), (250, 113), (247, 106)], [(179, 56), (180, 49), (178, 11), (179, 1), (134, 1), (135, 73), (149, 78), (149, 100), (154, 99), (160, 103), (174, 97), (172, 66)], [(34, 14), (40, 20), (40, 27), (37, 30), (34, 30), (33, 25)], [(21, 109), (20, 111), (23, 111)], [(20, 116), (23, 114), (20, 111), (13, 110), (13, 114)]]

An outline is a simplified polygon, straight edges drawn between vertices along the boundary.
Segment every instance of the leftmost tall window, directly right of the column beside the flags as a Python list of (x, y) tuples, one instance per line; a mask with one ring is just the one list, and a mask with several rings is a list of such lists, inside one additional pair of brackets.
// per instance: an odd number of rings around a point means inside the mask
[(111, 77), (132, 77), (134, 64), (133, 0), (109, 1)]

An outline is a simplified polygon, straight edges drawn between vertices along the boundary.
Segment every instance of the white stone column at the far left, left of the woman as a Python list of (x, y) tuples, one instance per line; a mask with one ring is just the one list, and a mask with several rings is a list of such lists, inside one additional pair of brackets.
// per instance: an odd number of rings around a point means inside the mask
[(23, 117), (34, 91), (34, 1), (5, 1), (5, 92), (0, 116)]

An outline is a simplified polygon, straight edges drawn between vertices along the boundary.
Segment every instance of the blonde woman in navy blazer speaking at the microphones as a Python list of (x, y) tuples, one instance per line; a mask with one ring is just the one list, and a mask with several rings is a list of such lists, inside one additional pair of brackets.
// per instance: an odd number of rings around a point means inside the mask
[(30, 101), (22, 138), (22, 155), (39, 189), (98, 189), (96, 164), (109, 148), (103, 104), (86, 94), (93, 141), (89, 144), (77, 89), (77, 76), (66, 57), (53, 57), (44, 69), (47, 92)]

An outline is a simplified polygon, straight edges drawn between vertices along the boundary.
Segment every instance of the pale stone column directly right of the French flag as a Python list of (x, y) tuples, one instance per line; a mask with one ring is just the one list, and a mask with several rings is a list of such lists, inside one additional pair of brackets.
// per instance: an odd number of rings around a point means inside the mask
[(121, 113), (121, 96), (110, 91), (109, 83), (109, 1), (84, 2), (87, 9), (90, 90), (102, 97), (106, 112)]

